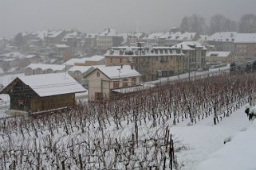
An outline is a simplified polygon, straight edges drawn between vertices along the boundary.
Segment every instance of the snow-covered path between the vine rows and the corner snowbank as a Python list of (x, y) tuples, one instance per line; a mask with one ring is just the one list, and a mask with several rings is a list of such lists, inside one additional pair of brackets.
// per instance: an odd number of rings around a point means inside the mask
[(233, 137), (248, 128), (250, 122), (244, 110), (244, 107), (240, 108), (215, 126), (210, 116), (194, 126), (187, 126), (186, 122), (180, 122), (177, 126), (171, 127), (171, 133), (175, 139), (181, 140), (189, 148), (177, 153), (179, 162), (185, 165), (182, 169), (196, 169), (207, 156), (223, 147), (226, 138)]

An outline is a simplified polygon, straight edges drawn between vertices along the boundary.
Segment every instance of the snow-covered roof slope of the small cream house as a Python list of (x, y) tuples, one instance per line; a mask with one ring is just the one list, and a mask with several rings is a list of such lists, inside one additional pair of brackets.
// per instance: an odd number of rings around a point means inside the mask
[(97, 66), (96, 69), (102, 71), (104, 75), (107, 75), (109, 77), (109, 79), (140, 76), (140, 73), (132, 69), (129, 65), (123, 65), (123, 68), (121, 68), (120, 66)]

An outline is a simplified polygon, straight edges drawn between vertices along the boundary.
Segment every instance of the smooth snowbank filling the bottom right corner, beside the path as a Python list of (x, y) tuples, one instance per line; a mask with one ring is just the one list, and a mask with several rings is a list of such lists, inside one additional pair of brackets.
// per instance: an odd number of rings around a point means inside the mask
[(256, 169), (256, 120), (239, 132), (222, 149), (207, 156), (197, 170), (249, 170)]

